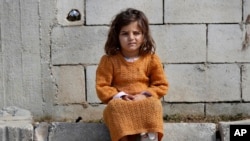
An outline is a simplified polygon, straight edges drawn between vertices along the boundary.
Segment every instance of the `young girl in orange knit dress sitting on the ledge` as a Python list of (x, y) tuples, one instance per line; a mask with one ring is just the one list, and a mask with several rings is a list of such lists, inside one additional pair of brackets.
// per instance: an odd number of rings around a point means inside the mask
[(143, 12), (129, 8), (116, 15), (105, 52), (96, 71), (96, 90), (107, 104), (103, 117), (112, 141), (160, 141), (160, 98), (168, 82)]

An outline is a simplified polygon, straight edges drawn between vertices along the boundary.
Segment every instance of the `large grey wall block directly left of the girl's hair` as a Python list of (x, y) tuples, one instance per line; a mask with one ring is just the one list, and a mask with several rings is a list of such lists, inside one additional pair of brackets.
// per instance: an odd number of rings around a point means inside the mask
[(52, 63), (97, 64), (104, 54), (108, 27), (56, 27), (52, 31)]

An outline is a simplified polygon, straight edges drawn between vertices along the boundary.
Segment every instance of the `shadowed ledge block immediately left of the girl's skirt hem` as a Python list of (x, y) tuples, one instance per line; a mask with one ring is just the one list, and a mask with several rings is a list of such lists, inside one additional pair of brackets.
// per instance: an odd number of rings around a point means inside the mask
[(59, 123), (51, 125), (49, 141), (110, 141), (109, 131), (100, 123)]

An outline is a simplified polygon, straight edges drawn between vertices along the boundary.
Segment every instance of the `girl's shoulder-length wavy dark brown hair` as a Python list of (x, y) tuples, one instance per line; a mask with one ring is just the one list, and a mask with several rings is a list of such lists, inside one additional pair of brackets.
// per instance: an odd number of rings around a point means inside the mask
[(119, 52), (121, 49), (119, 42), (119, 33), (121, 28), (135, 21), (138, 22), (138, 26), (144, 36), (144, 41), (140, 47), (139, 55), (155, 52), (155, 42), (151, 37), (147, 17), (139, 10), (128, 8), (117, 14), (111, 23), (108, 39), (104, 47), (107, 55), (115, 55)]

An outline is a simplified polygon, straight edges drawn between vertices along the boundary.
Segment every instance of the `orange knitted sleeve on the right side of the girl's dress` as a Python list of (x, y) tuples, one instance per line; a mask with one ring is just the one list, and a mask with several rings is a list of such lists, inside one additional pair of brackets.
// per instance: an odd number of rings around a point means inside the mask
[(152, 55), (152, 61), (149, 68), (149, 78), (150, 85), (146, 91), (160, 99), (167, 93), (169, 85), (161, 61), (155, 54)]

